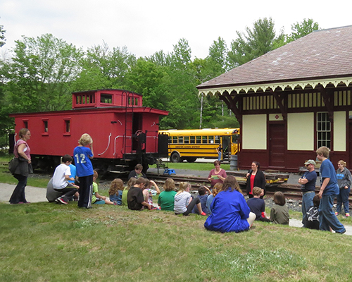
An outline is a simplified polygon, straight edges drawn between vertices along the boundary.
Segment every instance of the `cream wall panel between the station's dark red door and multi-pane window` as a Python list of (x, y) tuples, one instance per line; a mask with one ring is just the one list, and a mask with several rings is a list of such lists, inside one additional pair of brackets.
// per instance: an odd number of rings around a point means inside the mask
[(287, 149), (314, 150), (314, 114), (287, 114)]

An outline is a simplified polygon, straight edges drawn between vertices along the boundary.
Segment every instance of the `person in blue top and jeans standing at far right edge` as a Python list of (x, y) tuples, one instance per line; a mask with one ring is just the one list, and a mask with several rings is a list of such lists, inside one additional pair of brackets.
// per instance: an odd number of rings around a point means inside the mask
[(341, 214), (341, 207), (344, 204), (345, 216), (350, 216), (350, 210), (348, 206), (348, 196), (350, 195), (352, 176), (351, 172), (346, 168), (346, 162), (339, 161), (337, 163), (337, 184), (339, 185), (340, 192), (337, 195), (337, 205), (335, 214)]

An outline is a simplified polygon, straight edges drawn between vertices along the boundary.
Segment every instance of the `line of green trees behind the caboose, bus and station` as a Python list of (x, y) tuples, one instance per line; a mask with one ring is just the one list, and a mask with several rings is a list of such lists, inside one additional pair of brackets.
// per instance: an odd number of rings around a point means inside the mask
[[(87, 50), (51, 34), (15, 41), (11, 56), (0, 59), (0, 147), (13, 128), (9, 113), (71, 109), (71, 93), (118, 88), (143, 95), (144, 106), (170, 111), (160, 128), (223, 128), (239, 123), (217, 97), (201, 97), (196, 85), (318, 30), (312, 19), (291, 25), (291, 33), (275, 31), (272, 18), (235, 32), (230, 47), (222, 37), (213, 41), (205, 59), (191, 59), (187, 39), (165, 54), (137, 58), (127, 47), (107, 44)], [(6, 30), (0, 25), (0, 47)]]

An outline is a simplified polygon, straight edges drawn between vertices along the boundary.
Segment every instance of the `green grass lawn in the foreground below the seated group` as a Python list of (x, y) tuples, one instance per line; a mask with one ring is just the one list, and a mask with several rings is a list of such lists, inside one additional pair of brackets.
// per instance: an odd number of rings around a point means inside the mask
[(0, 281), (352, 281), (351, 237), (256, 222), (215, 233), (202, 216), (0, 204)]

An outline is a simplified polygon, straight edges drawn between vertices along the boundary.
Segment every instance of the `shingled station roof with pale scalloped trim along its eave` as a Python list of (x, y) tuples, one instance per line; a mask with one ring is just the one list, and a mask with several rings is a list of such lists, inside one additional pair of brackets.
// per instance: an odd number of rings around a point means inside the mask
[(352, 82), (352, 25), (317, 30), (198, 85), (199, 94)]

